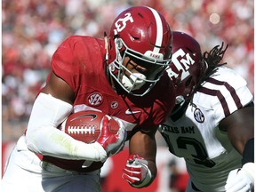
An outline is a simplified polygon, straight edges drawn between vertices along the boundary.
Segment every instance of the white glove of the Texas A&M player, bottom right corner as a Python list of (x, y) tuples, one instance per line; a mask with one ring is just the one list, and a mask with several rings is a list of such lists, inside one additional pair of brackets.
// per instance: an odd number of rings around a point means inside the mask
[(228, 174), (226, 192), (253, 192), (256, 175), (255, 164), (244, 164), (242, 169), (236, 169)]

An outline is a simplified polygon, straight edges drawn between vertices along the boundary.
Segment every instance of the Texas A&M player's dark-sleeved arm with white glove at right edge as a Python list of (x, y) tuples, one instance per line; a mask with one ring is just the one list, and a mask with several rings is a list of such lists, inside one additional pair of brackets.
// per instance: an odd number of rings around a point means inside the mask
[(227, 130), (228, 139), (243, 156), (241, 169), (228, 174), (227, 192), (254, 191), (256, 167), (254, 164), (254, 107), (248, 105), (220, 122), (220, 129)]

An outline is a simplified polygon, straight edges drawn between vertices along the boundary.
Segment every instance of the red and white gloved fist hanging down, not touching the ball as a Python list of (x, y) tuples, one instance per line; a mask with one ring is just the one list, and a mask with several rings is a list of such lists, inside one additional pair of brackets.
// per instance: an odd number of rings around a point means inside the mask
[(138, 155), (130, 155), (123, 170), (122, 178), (134, 188), (143, 188), (152, 179), (148, 161)]

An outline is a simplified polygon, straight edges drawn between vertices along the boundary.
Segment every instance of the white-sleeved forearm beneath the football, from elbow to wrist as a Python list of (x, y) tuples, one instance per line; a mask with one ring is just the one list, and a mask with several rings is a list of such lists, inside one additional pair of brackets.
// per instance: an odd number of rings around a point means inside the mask
[(27, 145), (36, 153), (64, 159), (103, 161), (107, 156), (98, 142), (86, 144), (50, 126), (30, 132), (27, 135)]

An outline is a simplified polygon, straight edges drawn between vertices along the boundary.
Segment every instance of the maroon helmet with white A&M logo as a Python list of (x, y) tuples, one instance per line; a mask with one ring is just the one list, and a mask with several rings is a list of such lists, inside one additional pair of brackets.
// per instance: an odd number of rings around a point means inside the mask
[(191, 99), (207, 64), (195, 38), (180, 31), (173, 31), (172, 36), (172, 62), (166, 71), (177, 87), (179, 96), (176, 102), (180, 103)]

